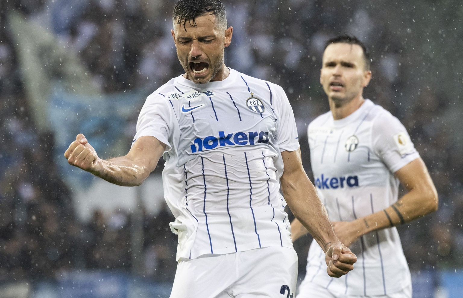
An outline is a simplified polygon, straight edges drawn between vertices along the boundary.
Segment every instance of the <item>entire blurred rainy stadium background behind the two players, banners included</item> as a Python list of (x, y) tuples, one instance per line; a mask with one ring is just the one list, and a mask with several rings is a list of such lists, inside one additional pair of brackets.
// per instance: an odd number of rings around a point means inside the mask
[[(175, 2), (1, 0), (0, 297), (168, 297), (176, 240), (162, 163), (122, 188), (63, 152), (80, 132), (102, 158), (128, 150), (145, 96), (182, 71)], [(224, 2), (234, 27), (225, 63), (286, 90), (309, 176), (306, 127), (328, 109), (323, 43), (347, 32), (369, 44), (365, 97), (407, 127), (439, 194), (436, 213), (399, 229), (413, 297), (462, 297), (461, 2)], [(300, 278), (310, 240), (295, 244)]]

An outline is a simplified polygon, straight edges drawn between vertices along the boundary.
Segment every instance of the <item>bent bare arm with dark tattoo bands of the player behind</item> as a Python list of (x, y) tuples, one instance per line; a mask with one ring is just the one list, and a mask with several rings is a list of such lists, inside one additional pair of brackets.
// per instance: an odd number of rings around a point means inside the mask
[(336, 235), (349, 246), (361, 235), (399, 226), (438, 209), (438, 195), (421, 158), (415, 159), (395, 172), (407, 194), (386, 209), (352, 222), (333, 222)]

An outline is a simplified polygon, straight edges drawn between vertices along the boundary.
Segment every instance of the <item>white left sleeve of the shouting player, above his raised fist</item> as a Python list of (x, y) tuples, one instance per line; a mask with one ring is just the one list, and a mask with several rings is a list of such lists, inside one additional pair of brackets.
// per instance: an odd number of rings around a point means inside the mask
[(153, 136), (166, 144), (168, 147), (166, 151), (169, 151), (171, 148), (169, 143), (170, 127), (172, 127), (170, 114), (167, 101), (157, 95), (148, 96), (138, 115), (137, 133), (133, 142), (139, 137)]

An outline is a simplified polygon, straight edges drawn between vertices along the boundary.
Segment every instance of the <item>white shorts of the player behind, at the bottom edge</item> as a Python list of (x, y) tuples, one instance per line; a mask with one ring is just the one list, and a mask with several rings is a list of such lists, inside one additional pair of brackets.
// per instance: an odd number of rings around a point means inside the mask
[(388, 295), (337, 295), (329, 289), (311, 282), (302, 282), (298, 290), (296, 298), (412, 298), (411, 284), (402, 291)]

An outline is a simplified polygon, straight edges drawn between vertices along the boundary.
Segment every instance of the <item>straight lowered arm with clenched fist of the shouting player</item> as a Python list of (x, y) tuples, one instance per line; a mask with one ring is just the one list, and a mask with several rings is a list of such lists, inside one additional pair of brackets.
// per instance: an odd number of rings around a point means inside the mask
[(284, 171), (280, 181), (289, 208), (325, 252), (328, 274), (332, 277), (346, 274), (353, 269), (357, 257), (334, 234), (325, 207), (302, 167), (300, 149), (283, 151), (282, 158)]

